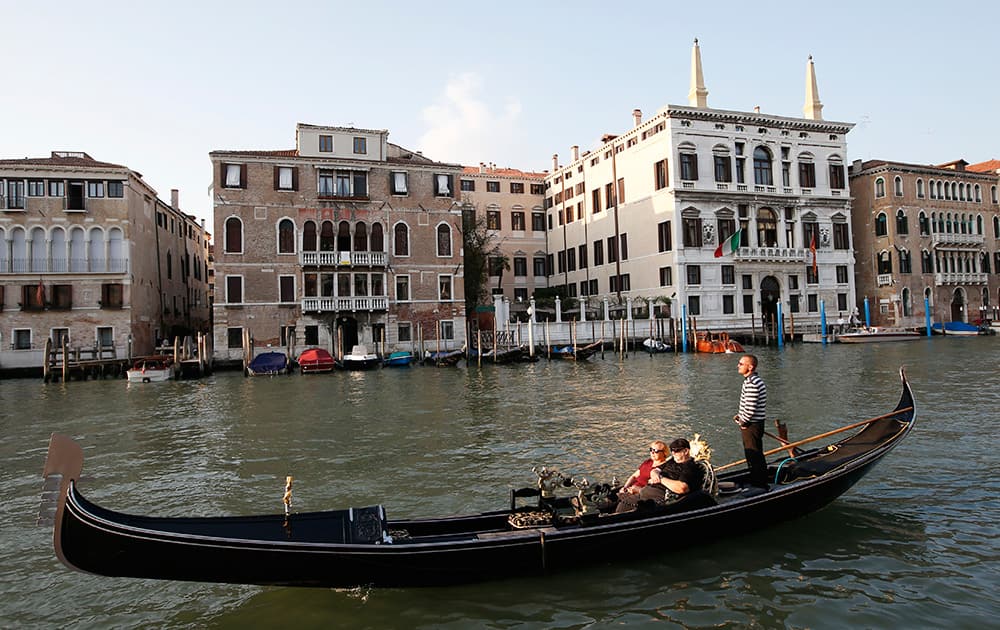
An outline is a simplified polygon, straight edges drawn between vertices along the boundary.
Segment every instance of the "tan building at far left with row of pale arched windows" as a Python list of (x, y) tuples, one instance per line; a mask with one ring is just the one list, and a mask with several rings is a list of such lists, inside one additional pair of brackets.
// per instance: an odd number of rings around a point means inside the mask
[(0, 160), (0, 368), (40, 367), (46, 339), (122, 358), (207, 332), (209, 238), (126, 166)]

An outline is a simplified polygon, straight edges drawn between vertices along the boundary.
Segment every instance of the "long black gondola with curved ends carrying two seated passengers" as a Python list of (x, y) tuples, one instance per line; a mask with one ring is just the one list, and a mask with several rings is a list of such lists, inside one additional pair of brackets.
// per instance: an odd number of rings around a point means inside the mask
[[(505, 509), (467, 516), (388, 520), (381, 505), (247, 517), (135, 516), (84, 498), (77, 485), (83, 452), (53, 434), (44, 475), (56, 506), (55, 552), (71, 568), (105, 576), (403, 587), (547, 574), (687, 549), (800, 517), (851, 488), (913, 426), (913, 396), (902, 370), (900, 376), (902, 395), (892, 412), (769, 452), (780, 451), (769, 463), (770, 490), (748, 486), (741, 463), (717, 475), (703, 464), (711, 483), (673, 503), (621, 514), (611, 509), (612, 484), (541, 469), (537, 486), (512, 490)], [(834, 434), (839, 441), (795, 450), (794, 457), (786, 452)], [(559, 496), (566, 491), (575, 493)]]

